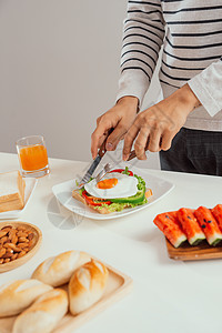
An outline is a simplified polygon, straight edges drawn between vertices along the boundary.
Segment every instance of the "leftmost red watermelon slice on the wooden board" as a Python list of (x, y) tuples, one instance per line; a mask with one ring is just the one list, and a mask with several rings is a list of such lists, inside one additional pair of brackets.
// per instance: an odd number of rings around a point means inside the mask
[(174, 248), (186, 241), (186, 236), (175, 219), (175, 212), (161, 213), (153, 220), (154, 224), (164, 233)]

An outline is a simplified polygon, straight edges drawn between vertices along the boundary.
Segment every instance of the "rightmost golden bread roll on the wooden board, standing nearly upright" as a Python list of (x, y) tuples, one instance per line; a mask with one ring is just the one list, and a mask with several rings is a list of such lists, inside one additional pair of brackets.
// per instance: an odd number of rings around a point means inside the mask
[(95, 260), (74, 272), (69, 283), (70, 312), (73, 315), (87, 310), (101, 299), (108, 275), (108, 269)]

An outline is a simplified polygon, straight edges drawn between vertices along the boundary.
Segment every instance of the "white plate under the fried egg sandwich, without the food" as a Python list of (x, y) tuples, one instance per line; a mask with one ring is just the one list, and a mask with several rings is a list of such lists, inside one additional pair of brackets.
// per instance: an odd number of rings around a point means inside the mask
[(154, 202), (159, 201), (161, 198), (165, 196), (173, 188), (174, 184), (168, 182), (161, 178), (154, 176), (149, 173), (144, 173), (141, 169), (133, 168), (133, 172), (142, 176), (147, 183), (147, 186), (150, 188), (153, 192), (153, 195), (148, 199), (148, 203), (143, 205), (138, 205), (132, 209), (124, 209), (121, 212), (114, 212), (110, 214), (100, 214), (97, 211), (91, 210), (80, 201), (72, 198), (72, 190), (77, 188), (75, 180), (70, 180), (60, 184), (57, 184), (52, 188), (52, 192), (58, 199), (58, 201), (68, 210), (93, 220), (110, 220), (121, 216), (132, 214), (134, 212), (144, 210)]

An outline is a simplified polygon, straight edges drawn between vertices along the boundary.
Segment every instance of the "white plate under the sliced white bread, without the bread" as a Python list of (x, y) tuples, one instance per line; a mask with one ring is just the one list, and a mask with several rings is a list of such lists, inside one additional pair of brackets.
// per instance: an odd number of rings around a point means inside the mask
[(37, 180), (34, 178), (23, 178), (26, 182), (26, 188), (24, 188), (24, 206), (22, 210), (16, 210), (16, 211), (8, 211), (0, 213), (0, 220), (2, 219), (17, 219), (19, 215), (26, 210), (27, 204), (31, 198), (31, 194), (33, 193), (33, 190), (37, 184)]

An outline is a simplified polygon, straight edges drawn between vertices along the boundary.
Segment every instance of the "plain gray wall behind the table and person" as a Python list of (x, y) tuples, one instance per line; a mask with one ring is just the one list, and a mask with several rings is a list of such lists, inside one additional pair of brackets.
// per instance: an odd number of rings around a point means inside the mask
[[(124, 0), (0, 1), (0, 151), (41, 133), (49, 155), (89, 161), (95, 119), (114, 103)], [(154, 77), (144, 107), (159, 95)], [(159, 168), (157, 154), (147, 164)]]

